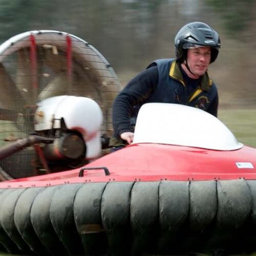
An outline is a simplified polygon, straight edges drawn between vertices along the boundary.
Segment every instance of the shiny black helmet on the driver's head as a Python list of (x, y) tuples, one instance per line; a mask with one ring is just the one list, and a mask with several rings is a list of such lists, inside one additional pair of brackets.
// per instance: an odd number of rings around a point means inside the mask
[(214, 62), (219, 54), (221, 40), (219, 34), (202, 22), (191, 22), (183, 26), (174, 39), (176, 58), (182, 62), (186, 59), (189, 48), (197, 46), (211, 47), (210, 63)]

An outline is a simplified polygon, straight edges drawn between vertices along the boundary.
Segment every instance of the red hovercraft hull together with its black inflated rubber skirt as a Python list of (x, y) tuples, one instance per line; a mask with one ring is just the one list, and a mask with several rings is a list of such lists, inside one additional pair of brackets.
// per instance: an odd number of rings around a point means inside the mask
[(249, 253), (256, 174), (246, 163), (256, 166), (255, 155), (141, 143), (83, 168), (2, 182), (1, 243), (43, 255)]

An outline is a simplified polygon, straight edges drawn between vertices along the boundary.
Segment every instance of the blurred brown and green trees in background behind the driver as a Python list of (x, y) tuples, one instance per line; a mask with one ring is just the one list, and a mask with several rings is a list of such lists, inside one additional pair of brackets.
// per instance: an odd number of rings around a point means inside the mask
[(98, 49), (125, 84), (154, 59), (174, 57), (177, 31), (200, 20), (221, 35), (210, 67), (221, 101), (242, 95), (256, 104), (255, 8), (256, 0), (0, 0), (0, 42), (29, 30), (69, 32)]

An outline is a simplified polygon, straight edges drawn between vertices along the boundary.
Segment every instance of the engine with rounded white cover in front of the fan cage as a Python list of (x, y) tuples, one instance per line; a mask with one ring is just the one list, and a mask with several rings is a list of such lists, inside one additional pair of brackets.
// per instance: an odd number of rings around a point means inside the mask
[(54, 172), (99, 157), (102, 120), (99, 105), (90, 98), (63, 95), (40, 101), (35, 133), (53, 142), (34, 146), (39, 168)]

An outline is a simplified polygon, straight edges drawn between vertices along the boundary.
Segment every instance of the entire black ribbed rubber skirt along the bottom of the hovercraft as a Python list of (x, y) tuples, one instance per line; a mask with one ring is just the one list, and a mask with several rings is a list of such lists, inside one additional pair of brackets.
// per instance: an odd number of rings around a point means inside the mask
[(0, 193), (0, 249), (9, 253), (256, 250), (256, 180), (76, 183)]

